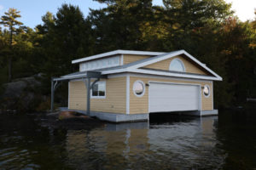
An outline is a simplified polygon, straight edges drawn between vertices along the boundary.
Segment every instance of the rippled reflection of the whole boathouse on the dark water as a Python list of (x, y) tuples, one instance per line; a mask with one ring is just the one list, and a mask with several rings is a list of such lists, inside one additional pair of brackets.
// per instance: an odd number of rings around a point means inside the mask
[[(150, 128), (148, 122), (133, 122), (107, 123), (105, 127), (90, 131), (68, 131), (68, 163), (80, 165), (79, 168), (92, 165), (97, 166), (94, 168), (118, 168), (129, 162), (150, 161), (152, 157), (166, 160), (174, 167), (178, 167), (176, 163), (180, 160), (205, 161), (205, 154), (211, 154), (206, 150), (211, 150), (216, 144), (214, 124), (217, 122), (218, 116), (209, 116), (151, 124)], [(97, 163), (89, 165), (88, 161)]]

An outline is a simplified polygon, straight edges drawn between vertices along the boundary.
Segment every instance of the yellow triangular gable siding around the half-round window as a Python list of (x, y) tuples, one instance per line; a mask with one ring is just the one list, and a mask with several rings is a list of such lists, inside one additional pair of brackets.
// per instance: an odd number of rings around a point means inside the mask
[(154, 63), (152, 65), (146, 65), (146, 66), (144, 66), (144, 68), (169, 71), (169, 66), (170, 66), (172, 59), (181, 59), (185, 66), (186, 72), (201, 74), (201, 75), (208, 74), (207, 71), (203, 71), (200, 68), (201, 66), (196, 65), (195, 63), (193, 63), (193, 61), (189, 61), (189, 59), (185, 59), (183, 56), (176, 56), (171, 59), (165, 59), (165, 60), (159, 61), (157, 63)]

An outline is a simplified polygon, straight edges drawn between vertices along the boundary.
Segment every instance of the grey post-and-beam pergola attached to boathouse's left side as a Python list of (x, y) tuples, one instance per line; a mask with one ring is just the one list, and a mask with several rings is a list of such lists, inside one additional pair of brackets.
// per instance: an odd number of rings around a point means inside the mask
[[(94, 82), (90, 83), (91, 79), (96, 79)], [(54, 110), (54, 99), (55, 99), (55, 89), (60, 85), (59, 82), (70, 81), (73, 79), (81, 79), (84, 82), (85, 88), (87, 89), (87, 115), (90, 116), (90, 89), (98, 82), (101, 78), (107, 78), (106, 75), (102, 75), (101, 72), (96, 71), (84, 71), (77, 72), (63, 77), (53, 77), (51, 80), (51, 103), (50, 111)]]

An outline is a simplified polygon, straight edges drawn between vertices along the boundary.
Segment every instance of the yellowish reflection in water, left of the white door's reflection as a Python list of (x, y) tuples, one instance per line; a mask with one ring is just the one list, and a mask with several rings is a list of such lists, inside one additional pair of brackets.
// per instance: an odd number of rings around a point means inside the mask
[(66, 147), (68, 164), (79, 164), (86, 169), (124, 168), (136, 158), (134, 156), (149, 149), (148, 125), (148, 122), (109, 123), (104, 129), (69, 130)]

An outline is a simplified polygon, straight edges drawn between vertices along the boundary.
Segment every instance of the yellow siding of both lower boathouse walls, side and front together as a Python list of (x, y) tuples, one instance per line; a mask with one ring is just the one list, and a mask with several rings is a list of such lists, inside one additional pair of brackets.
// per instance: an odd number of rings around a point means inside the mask
[[(143, 97), (133, 94), (133, 83), (141, 80), (144, 83), (155, 82), (176, 82), (207, 84), (210, 87), (210, 96), (206, 98), (201, 90), (201, 110), (212, 110), (212, 83), (211, 82), (189, 82), (163, 78), (130, 77), (130, 113), (148, 113), (148, 87)], [(112, 113), (126, 113), (126, 77), (110, 78), (106, 80), (106, 98), (91, 99), (91, 111), (102, 111)], [(86, 111), (86, 88), (84, 82), (69, 82), (69, 109)]]

